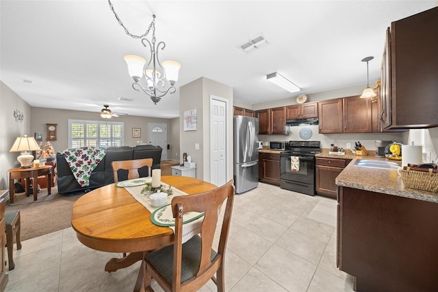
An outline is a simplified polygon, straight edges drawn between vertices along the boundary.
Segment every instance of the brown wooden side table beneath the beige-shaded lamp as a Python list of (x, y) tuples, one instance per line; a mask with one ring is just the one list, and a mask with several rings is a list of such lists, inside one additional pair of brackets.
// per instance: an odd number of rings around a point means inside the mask
[(14, 193), (15, 186), (14, 180), (25, 178), (26, 180), (26, 197), (29, 197), (30, 188), (30, 178), (34, 179), (34, 201), (38, 199), (38, 175), (45, 175), (47, 178), (47, 193), (51, 194), (51, 177), (52, 177), (52, 166), (44, 165), (43, 167), (28, 167), (28, 168), (17, 168), (9, 169), (9, 197), (10, 203), (14, 203)]

